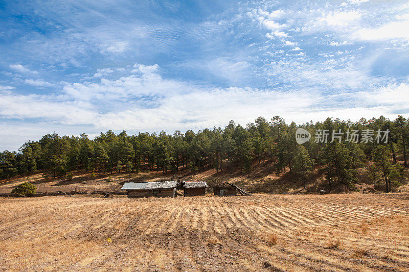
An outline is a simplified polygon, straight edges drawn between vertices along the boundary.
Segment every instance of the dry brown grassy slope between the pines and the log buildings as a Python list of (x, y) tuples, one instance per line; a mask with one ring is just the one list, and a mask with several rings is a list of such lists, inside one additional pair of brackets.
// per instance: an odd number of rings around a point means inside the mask
[[(249, 176), (242, 173), (239, 167), (233, 167), (231, 170), (217, 172), (215, 169), (197, 171), (196, 175), (191, 171), (179, 171), (177, 174), (168, 171), (149, 171), (140, 174), (113, 172), (112, 174), (102, 174), (101, 177), (96, 174), (92, 177), (92, 172), (84, 173), (83, 170), (73, 171), (73, 179), (67, 180), (65, 177), (44, 178), (41, 172), (28, 177), (13, 177), (10, 180), (0, 181), (0, 193), (9, 193), (15, 186), (22, 182), (30, 182), (37, 186), (37, 192), (44, 191), (93, 191), (107, 190), (117, 191), (124, 182), (142, 182), (142, 181), (165, 181), (180, 178), (181, 180), (206, 180), (209, 186), (213, 186), (222, 181), (234, 183), (249, 192), (255, 193), (317, 193), (321, 189), (333, 189), (338, 191), (337, 185), (329, 186), (325, 181), (324, 169), (314, 168), (311, 177), (307, 181), (307, 190), (302, 190), (303, 186), (300, 179), (289, 173), (288, 167), (285, 168), (286, 174), (276, 174), (276, 168), (271, 161), (262, 161), (254, 163)], [(409, 170), (404, 170), (404, 175), (400, 179), (401, 186), (394, 187), (393, 191), (409, 192), (407, 181), (409, 180)], [(359, 192), (375, 192), (373, 190), (373, 181), (369, 177), (367, 167), (358, 169), (358, 183), (356, 187)], [(341, 188), (345, 191), (345, 187)], [(377, 185), (376, 192), (384, 192), (385, 185), (380, 182)]]

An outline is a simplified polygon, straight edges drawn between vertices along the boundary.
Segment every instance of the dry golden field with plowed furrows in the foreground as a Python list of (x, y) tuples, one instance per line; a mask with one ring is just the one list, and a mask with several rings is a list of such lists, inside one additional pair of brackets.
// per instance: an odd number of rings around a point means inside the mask
[(0, 200), (0, 270), (409, 271), (409, 195)]

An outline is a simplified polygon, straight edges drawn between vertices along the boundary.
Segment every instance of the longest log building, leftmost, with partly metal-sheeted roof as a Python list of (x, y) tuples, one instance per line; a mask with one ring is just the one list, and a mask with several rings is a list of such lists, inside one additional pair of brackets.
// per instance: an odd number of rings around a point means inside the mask
[(138, 197), (175, 197), (177, 181), (126, 182), (122, 189), (130, 199)]

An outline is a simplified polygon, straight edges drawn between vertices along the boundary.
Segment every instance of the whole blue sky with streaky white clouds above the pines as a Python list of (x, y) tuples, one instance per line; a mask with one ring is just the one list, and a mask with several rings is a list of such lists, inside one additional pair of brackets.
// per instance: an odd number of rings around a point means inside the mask
[(0, 1), (0, 150), (409, 113), (406, 1)]

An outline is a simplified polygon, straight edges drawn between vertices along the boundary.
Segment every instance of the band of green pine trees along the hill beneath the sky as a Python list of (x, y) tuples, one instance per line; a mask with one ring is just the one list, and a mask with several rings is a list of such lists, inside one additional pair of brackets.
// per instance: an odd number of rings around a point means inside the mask
[[(311, 139), (298, 144), (298, 128), (308, 131)], [(379, 131), (388, 131), (387, 139), (385, 135), (376, 138)], [(354, 132), (361, 134), (351, 140)], [(250, 175), (254, 167), (268, 160), (279, 177), (289, 172), (303, 182), (304, 188), (311, 170), (318, 168), (325, 172), (330, 186), (343, 184), (353, 189), (357, 169), (368, 165), (374, 186), (384, 182), (389, 192), (402, 176), (403, 167), (408, 167), (408, 135), (409, 122), (403, 116), (395, 120), (361, 118), (357, 122), (327, 118), (299, 126), (294, 122), (287, 125), (280, 116), (270, 120), (259, 117), (245, 127), (232, 120), (223, 129), (214, 127), (197, 133), (128, 135), (125, 130), (119, 134), (108, 130), (94, 139), (86, 134), (61, 137), (53, 133), (26, 142), (18, 152), (1, 152), (0, 179), (38, 170), (46, 176), (72, 177), (74, 170), (100, 176), (114, 171), (151, 170), (190, 170), (196, 174), (209, 168), (219, 172), (237, 166)]]

